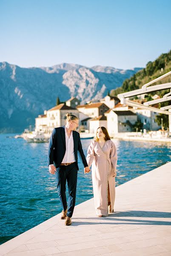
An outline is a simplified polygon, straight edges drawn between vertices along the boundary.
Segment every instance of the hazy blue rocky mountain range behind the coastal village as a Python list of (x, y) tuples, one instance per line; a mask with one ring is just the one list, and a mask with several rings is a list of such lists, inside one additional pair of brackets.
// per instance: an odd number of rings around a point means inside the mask
[(60, 101), (75, 96), (83, 104), (98, 101), (139, 70), (67, 63), (21, 68), (0, 62), (0, 132), (22, 132), (34, 125), (38, 114), (56, 105), (57, 96)]

